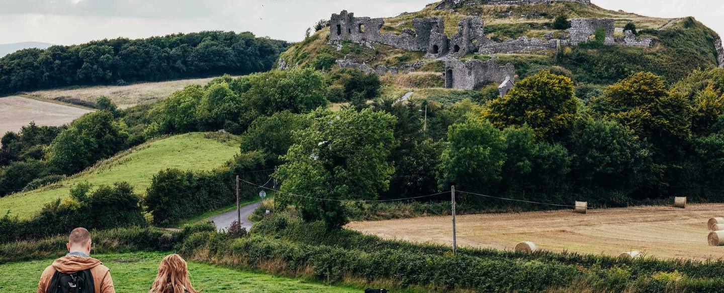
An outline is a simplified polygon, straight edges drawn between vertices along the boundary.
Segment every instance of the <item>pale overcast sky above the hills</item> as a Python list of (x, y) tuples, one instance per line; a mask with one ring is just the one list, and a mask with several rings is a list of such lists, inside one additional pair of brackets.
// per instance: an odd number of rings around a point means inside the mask
[[(389, 17), (434, 0), (0, 0), (0, 43), (85, 43), (201, 30), (251, 31), (300, 41), (317, 20), (347, 9)], [(694, 16), (724, 35), (722, 0), (592, 0), (607, 9), (655, 17)]]

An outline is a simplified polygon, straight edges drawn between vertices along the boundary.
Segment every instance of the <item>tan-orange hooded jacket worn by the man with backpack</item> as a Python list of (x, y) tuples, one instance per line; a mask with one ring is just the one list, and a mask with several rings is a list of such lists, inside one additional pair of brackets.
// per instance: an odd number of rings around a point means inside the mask
[(61, 273), (75, 273), (90, 269), (93, 275), (93, 284), (96, 286), (96, 293), (116, 293), (111, 279), (111, 271), (95, 258), (83, 258), (82, 256), (70, 255), (59, 258), (51, 266), (43, 271), (41, 281), (38, 282), (38, 293), (48, 292), (48, 286), (56, 271)]

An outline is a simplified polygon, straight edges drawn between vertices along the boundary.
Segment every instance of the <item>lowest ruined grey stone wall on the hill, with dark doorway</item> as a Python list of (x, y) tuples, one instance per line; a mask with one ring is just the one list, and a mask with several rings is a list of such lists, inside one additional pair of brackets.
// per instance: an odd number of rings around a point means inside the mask
[(512, 79), (514, 76), (513, 64), (498, 66), (495, 64), (495, 59), (488, 61), (471, 59), (463, 62), (448, 58), (445, 61), (445, 88), (473, 90), (484, 83), (500, 84), (506, 77)]

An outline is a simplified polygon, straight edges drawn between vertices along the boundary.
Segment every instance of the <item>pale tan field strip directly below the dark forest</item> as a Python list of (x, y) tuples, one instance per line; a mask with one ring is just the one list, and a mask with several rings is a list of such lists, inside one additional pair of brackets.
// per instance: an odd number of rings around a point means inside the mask
[(142, 82), (132, 85), (98, 85), (82, 88), (61, 88), (54, 90), (38, 90), (28, 96), (40, 100), (72, 99), (95, 103), (99, 96), (105, 95), (121, 109), (142, 103), (153, 103), (167, 98), (171, 93), (181, 90), (186, 85), (206, 85), (213, 77), (189, 80), (170, 80), (164, 82)]

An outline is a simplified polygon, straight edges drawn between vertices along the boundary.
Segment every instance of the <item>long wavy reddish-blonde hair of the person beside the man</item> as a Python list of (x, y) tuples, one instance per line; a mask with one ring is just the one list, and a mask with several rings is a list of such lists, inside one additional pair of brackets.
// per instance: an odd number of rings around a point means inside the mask
[(149, 293), (199, 293), (188, 279), (188, 266), (181, 255), (167, 255), (161, 260), (159, 274)]

